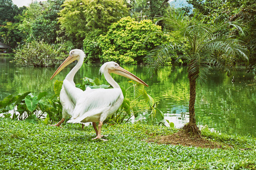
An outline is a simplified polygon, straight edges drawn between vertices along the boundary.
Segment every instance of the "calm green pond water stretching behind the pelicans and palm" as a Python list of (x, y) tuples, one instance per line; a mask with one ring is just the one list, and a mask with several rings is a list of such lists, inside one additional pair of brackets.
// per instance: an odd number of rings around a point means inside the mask
[[(72, 69), (65, 68), (53, 80), (49, 80), (57, 67), (34, 68), (17, 67), (9, 63), (10, 57), (0, 57), (0, 100), (10, 94), (22, 92), (53, 93), (55, 80), (63, 80)], [(84, 65), (75, 77), (99, 78), (107, 84), (102, 75), (98, 74), (100, 65)], [(180, 127), (188, 122), (189, 83), (186, 67), (165, 67), (156, 78), (150, 78), (148, 70), (143, 66), (123, 66), (126, 70), (144, 80), (149, 87), (147, 93), (157, 102), (165, 119)], [(113, 75), (121, 87), (131, 86), (128, 79)], [(256, 137), (256, 85), (251, 82), (253, 75), (240, 70), (232, 78), (214, 72), (206, 84), (197, 86), (196, 120), (197, 125), (208, 125), (213, 130)]]

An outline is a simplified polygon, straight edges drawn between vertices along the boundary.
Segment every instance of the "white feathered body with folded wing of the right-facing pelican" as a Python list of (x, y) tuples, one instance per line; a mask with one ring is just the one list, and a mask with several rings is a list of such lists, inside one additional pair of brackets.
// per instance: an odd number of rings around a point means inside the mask
[(79, 100), (77, 100), (73, 116), (68, 122), (104, 121), (117, 111), (122, 102), (121, 88), (86, 90), (82, 92)]

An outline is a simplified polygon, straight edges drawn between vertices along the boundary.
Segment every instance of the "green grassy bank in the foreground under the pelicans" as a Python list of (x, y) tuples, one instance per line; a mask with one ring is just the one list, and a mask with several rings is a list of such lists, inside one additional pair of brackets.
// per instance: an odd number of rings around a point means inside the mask
[(209, 134), (232, 147), (210, 149), (147, 142), (176, 129), (105, 125), (108, 141), (92, 141), (92, 126), (56, 128), (0, 118), (0, 169), (254, 169), (256, 139)]

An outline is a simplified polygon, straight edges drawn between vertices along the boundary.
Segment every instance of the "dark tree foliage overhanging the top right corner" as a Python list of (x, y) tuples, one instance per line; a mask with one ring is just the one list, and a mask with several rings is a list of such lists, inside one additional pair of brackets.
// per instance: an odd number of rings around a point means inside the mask
[(214, 1), (191, 1), (193, 7), (199, 10), (204, 17), (202, 20), (207, 23), (217, 23), (219, 20), (229, 20), (240, 22), (243, 26), (245, 35), (240, 36), (232, 32), (238, 39), (245, 42), (249, 49), (249, 60), (251, 65), (256, 63), (256, 5), (255, 1), (250, 0), (214, 0)]

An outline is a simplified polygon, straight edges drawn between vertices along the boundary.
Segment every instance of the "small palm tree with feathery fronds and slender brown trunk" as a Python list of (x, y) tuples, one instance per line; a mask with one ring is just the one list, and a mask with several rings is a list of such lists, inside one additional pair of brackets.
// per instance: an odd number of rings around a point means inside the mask
[(199, 135), (195, 119), (197, 84), (205, 82), (213, 66), (230, 75), (237, 61), (247, 60), (246, 48), (241, 45), (240, 40), (234, 39), (233, 35), (242, 32), (241, 27), (229, 22), (209, 25), (201, 22), (201, 16), (199, 12), (195, 12), (195, 15), (188, 19), (182, 13), (174, 12), (168, 17), (159, 17), (158, 21), (166, 25), (167, 31), (163, 33), (173, 37), (175, 42), (162, 44), (146, 56), (150, 69), (157, 72), (168, 57), (175, 54), (175, 50), (183, 53), (181, 58), (185, 58), (188, 63), (190, 87), (189, 123), (183, 129)]

